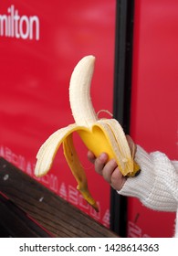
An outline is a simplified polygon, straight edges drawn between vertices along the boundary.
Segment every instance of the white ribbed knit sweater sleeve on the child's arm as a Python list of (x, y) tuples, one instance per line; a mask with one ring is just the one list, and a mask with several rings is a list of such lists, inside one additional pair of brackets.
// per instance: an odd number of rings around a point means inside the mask
[(178, 238), (178, 161), (161, 152), (148, 154), (139, 145), (135, 161), (141, 166), (140, 175), (128, 178), (118, 193), (138, 197), (148, 208), (176, 212), (174, 237)]

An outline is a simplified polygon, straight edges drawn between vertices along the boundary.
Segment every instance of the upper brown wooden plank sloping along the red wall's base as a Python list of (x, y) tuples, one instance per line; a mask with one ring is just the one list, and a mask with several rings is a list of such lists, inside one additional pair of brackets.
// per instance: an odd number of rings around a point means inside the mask
[(2, 157), (0, 191), (54, 237), (117, 237)]

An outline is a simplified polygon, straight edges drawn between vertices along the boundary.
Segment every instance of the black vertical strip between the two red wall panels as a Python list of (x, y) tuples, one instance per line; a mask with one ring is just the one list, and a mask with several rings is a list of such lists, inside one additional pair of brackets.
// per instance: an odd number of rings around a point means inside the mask
[[(131, 62), (134, 0), (118, 0), (116, 5), (116, 41), (113, 112), (125, 133), (130, 133)], [(126, 237), (127, 198), (110, 191), (110, 229)]]

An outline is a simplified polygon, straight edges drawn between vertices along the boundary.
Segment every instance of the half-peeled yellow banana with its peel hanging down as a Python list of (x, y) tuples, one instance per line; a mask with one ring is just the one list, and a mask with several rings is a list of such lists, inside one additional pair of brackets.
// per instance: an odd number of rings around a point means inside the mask
[(134, 176), (140, 169), (131, 155), (125, 133), (115, 119), (98, 119), (90, 99), (90, 83), (93, 76), (95, 57), (86, 56), (73, 70), (69, 84), (69, 101), (75, 123), (51, 134), (37, 153), (36, 176), (44, 176), (50, 170), (60, 144), (78, 182), (78, 189), (88, 203), (99, 211), (98, 205), (89, 193), (85, 171), (75, 150), (72, 133), (77, 132), (87, 148), (94, 155), (106, 152), (115, 159), (123, 176)]

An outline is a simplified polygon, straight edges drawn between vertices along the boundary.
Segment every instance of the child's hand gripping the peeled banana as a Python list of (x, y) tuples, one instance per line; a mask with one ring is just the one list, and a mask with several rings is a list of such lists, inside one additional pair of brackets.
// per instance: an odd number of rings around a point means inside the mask
[[(131, 148), (131, 152), (135, 149), (135, 144), (131, 140), (131, 137), (127, 135), (127, 141)], [(88, 152), (89, 161), (95, 165), (95, 171), (103, 176), (103, 178), (116, 190), (120, 190), (127, 177), (122, 176), (120, 173), (120, 169), (114, 159), (110, 160), (107, 163), (108, 155), (106, 153), (102, 153), (99, 157), (95, 157), (92, 152)]]

